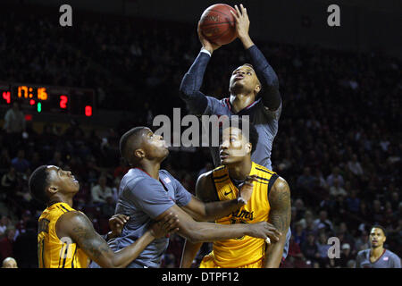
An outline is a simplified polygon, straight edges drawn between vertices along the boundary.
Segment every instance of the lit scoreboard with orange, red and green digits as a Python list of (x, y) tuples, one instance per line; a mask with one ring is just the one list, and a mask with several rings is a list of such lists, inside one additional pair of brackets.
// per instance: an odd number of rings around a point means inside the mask
[(93, 89), (0, 83), (0, 106), (12, 106), (38, 114), (92, 116), (95, 107)]

